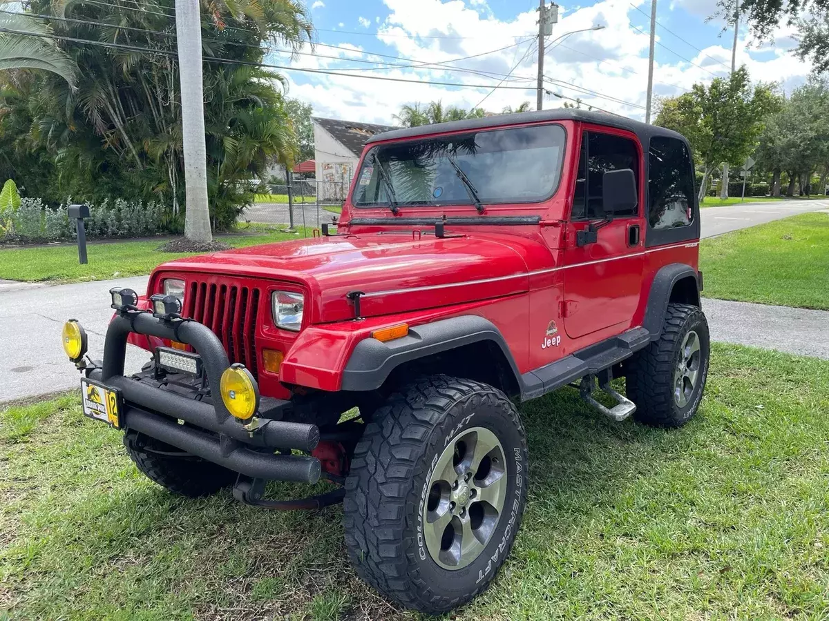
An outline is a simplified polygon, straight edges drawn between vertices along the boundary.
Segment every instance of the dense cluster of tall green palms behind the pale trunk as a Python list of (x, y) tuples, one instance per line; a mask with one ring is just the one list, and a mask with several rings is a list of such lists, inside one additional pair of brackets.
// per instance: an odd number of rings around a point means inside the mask
[[(181, 230), (182, 111), (170, 0), (32, 0), (31, 9), (77, 20), (57, 19), (56, 35), (127, 49), (57, 41), (80, 67), (76, 89), (46, 72), (0, 89), (0, 172), (52, 204), (69, 196), (158, 201), (167, 227)], [(284, 80), (245, 63), (264, 60), (267, 43), (298, 49), (312, 26), (295, 0), (211, 0), (202, 3), (201, 22), (204, 55), (228, 60), (203, 65), (211, 224), (226, 229), (253, 200), (249, 181), (264, 175), (269, 160), (293, 162), (296, 152)]]

